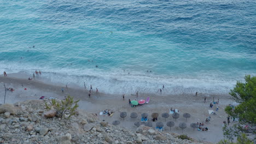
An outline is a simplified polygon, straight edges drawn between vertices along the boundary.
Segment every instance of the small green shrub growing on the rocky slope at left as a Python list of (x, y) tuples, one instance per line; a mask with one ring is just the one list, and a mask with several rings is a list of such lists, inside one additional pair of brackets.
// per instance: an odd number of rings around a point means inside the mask
[(58, 103), (58, 101), (56, 99), (52, 99), (50, 105), (48, 105), (47, 103), (45, 103), (45, 107), (46, 109), (50, 110), (50, 109), (55, 109), (56, 112), (56, 116), (62, 118), (63, 115), (65, 113), (67, 113), (69, 117), (75, 115), (75, 111), (77, 110), (78, 107), (78, 101), (74, 101), (73, 97), (70, 97), (70, 95), (68, 95), (68, 97), (65, 100), (61, 100), (60, 103)]

